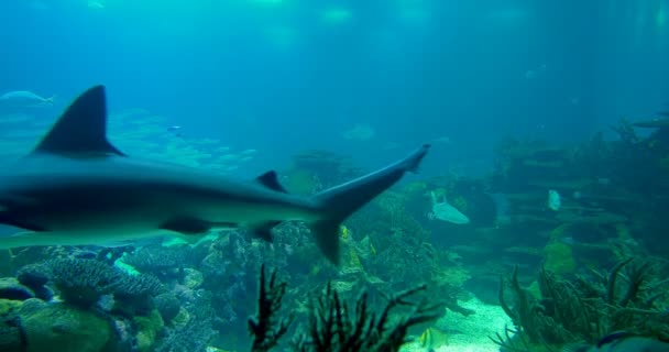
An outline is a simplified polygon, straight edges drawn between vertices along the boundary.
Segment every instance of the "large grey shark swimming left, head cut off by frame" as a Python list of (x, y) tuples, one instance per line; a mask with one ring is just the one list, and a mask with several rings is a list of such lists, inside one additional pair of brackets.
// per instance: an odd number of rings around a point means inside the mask
[(305, 221), (325, 256), (339, 261), (339, 226), (415, 172), (423, 145), (377, 172), (312, 197), (289, 195), (271, 170), (234, 180), (200, 169), (129, 157), (107, 139), (103, 86), (81, 94), (32, 153), (0, 170), (0, 223), (28, 230), (0, 248), (109, 245), (167, 231), (191, 238), (244, 227), (266, 240), (283, 221)]

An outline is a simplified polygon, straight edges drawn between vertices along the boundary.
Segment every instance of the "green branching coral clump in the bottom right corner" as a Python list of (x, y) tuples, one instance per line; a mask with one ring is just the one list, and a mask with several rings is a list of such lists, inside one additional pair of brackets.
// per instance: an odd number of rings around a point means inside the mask
[[(638, 262), (638, 263), (637, 263)], [(669, 338), (669, 317), (656, 301), (665, 295), (656, 280), (656, 263), (625, 260), (608, 273), (593, 272), (596, 280), (559, 278), (542, 270), (539, 274), (541, 298), (520, 286), (517, 268), (502, 280), (500, 301), (513, 319), (520, 341), (545, 348), (574, 342), (596, 342), (613, 331)], [(505, 297), (513, 293), (513, 302)], [(509, 351), (522, 351), (517, 341), (497, 334), (493, 341)]]

